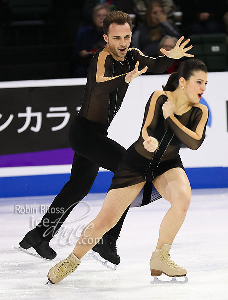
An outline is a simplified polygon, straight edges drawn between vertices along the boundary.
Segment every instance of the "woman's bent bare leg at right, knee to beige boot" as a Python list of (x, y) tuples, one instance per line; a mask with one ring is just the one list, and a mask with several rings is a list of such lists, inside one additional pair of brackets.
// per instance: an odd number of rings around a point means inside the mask
[(159, 230), (156, 249), (164, 244), (172, 244), (179, 231), (191, 200), (191, 187), (185, 171), (173, 168), (153, 180), (160, 195), (171, 203), (171, 208), (164, 216)]

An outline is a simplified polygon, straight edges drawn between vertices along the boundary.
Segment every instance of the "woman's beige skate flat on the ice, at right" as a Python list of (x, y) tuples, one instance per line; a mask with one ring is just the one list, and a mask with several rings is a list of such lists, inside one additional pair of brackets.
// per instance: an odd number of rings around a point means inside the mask
[[(188, 282), (188, 278), (186, 277), (186, 269), (178, 266), (173, 260), (170, 259), (170, 248), (171, 245), (165, 244), (161, 249), (152, 252), (152, 256), (150, 259), (150, 270), (151, 276), (154, 276), (154, 281), (151, 281), (151, 283), (173, 284)], [(162, 273), (174, 278), (169, 281), (159, 280), (157, 276), (161, 276)], [(185, 277), (185, 280), (177, 280), (176, 277)]]

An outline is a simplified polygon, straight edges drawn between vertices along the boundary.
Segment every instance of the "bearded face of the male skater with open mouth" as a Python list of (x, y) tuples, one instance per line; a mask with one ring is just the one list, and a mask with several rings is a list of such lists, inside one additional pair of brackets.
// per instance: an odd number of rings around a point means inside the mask
[(109, 26), (108, 35), (104, 34), (104, 40), (110, 51), (117, 56), (118, 60), (124, 60), (127, 54), (127, 50), (131, 43), (131, 29), (128, 23), (124, 25), (118, 25), (112, 23)]

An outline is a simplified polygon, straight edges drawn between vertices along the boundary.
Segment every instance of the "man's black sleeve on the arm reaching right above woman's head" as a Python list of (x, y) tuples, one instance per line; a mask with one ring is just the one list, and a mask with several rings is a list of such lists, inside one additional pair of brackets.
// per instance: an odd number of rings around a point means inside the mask
[(167, 56), (159, 56), (157, 58), (145, 56), (139, 49), (130, 48), (132, 55), (134, 55), (135, 62), (139, 61), (139, 68), (143, 69), (145, 66), (148, 67), (149, 72), (163, 73), (167, 70), (175, 61), (173, 58)]

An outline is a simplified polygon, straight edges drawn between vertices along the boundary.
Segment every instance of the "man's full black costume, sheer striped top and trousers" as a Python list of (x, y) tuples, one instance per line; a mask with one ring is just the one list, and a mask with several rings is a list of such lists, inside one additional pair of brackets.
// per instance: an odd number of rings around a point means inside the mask
[[(99, 166), (112, 172), (117, 170), (126, 150), (107, 137), (107, 129), (120, 109), (129, 86), (125, 82), (126, 73), (134, 69), (137, 61), (140, 68), (148, 66), (149, 71), (161, 73), (174, 60), (166, 56), (156, 59), (146, 57), (138, 49), (131, 48), (124, 61), (117, 61), (107, 46), (92, 58), (83, 105), (69, 131), (70, 146), (75, 151), (71, 177), (50, 206), (51, 211), (56, 213), (48, 210), (36, 227), (44, 240), (53, 238), (71, 210), (88, 194)], [(59, 207), (63, 207), (64, 213)], [(108, 234), (117, 238), (127, 211)]]

